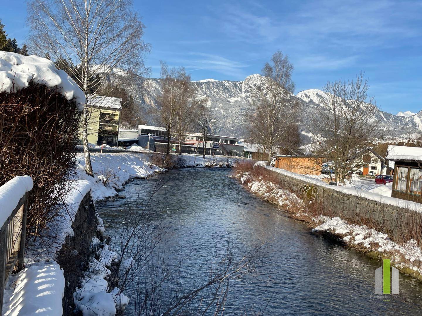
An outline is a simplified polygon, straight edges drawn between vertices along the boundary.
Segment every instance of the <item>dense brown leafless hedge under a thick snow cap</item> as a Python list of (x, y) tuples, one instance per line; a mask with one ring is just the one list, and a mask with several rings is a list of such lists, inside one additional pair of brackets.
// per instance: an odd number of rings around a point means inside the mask
[(37, 234), (63, 205), (66, 181), (75, 170), (80, 120), (75, 102), (60, 89), (31, 82), (0, 93), (0, 185), (30, 175), (27, 231)]

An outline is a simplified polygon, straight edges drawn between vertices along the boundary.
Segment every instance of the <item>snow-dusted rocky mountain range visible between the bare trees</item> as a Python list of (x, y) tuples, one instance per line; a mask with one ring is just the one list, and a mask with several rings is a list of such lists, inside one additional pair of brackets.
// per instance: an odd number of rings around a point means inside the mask
[[(205, 79), (194, 81), (199, 96), (209, 97), (209, 106), (215, 111), (218, 120), (216, 133), (244, 137), (247, 135), (247, 126), (243, 120), (243, 114), (249, 110), (252, 103), (252, 95), (257, 88), (262, 86), (261, 75), (250, 75), (243, 81)], [(155, 124), (151, 115), (151, 107), (157, 104), (157, 96), (160, 94), (161, 79), (142, 78), (137, 83), (127, 87), (139, 102), (145, 120), (149, 124)], [(324, 91), (309, 89), (300, 91), (294, 96), (301, 107), (301, 131), (306, 135), (311, 131), (311, 117), (322, 110), (321, 98), (327, 97)], [(366, 106), (373, 106), (367, 104)], [(399, 113), (400, 114), (400, 113)], [(392, 115), (384, 111), (376, 111), (376, 120), (380, 127), (388, 131), (392, 136), (422, 132), (422, 111), (406, 116)], [(306, 140), (305, 140), (306, 141)]]

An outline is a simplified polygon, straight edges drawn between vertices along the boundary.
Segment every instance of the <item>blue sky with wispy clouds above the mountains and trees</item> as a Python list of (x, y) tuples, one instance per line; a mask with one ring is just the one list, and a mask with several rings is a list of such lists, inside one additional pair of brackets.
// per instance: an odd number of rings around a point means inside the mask
[[(422, 110), (421, 1), (135, 1), (151, 44), (146, 65), (184, 66), (192, 80), (243, 80), (277, 50), (295, 66), (296, 92), (365, 71), (382, 110)], [(22, 43), (25, 3), (2, 8)]]

